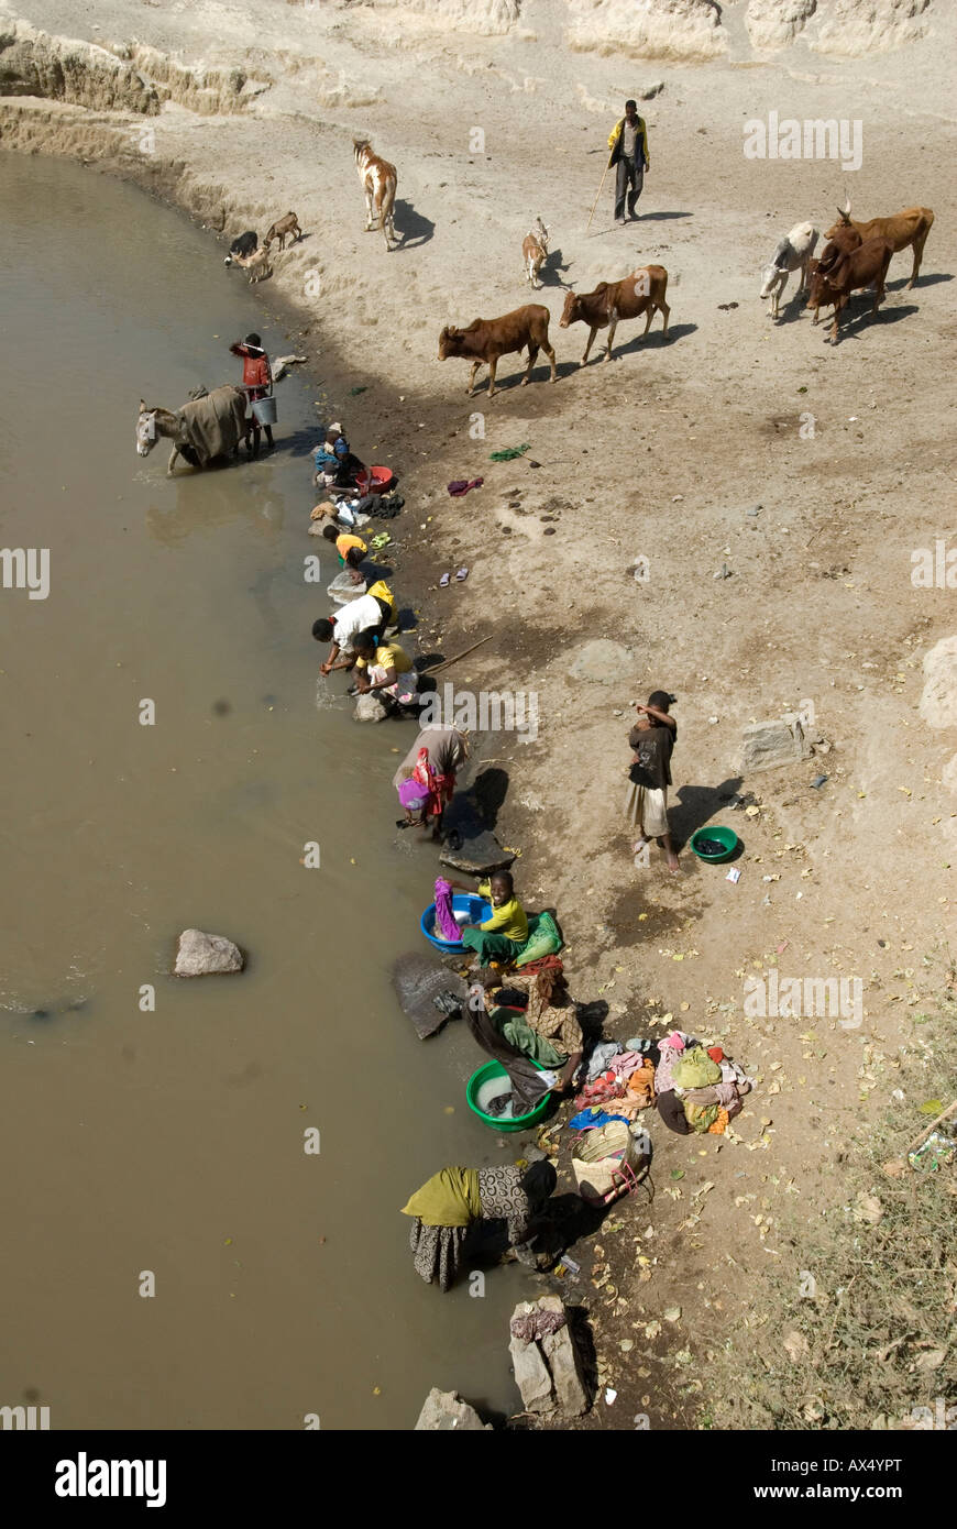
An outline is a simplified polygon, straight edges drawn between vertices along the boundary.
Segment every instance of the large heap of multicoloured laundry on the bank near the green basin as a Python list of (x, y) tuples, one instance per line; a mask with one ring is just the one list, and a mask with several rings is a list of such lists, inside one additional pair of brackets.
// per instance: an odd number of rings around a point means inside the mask
[(601, 1041), (589, 1060), (586, 1084), (575, 1099), (578, 1113), (569, 1125), (590, 1130), (615, 1119), (630, 1124), (641, 1110), (656, 1105), (679, 1136), (720, 1136), (740, 1113), (752, 1084), (754, 1078), (720, 1046), (705, 1047), (683, 1031), (662, 1041)]

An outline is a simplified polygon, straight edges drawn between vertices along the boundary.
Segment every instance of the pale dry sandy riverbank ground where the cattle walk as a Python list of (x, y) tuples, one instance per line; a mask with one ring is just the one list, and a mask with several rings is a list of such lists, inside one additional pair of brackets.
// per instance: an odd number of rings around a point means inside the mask
[[(602, 1379), (619, 1393), (586, 1427), (642, 1413), (693, 1425), (708, 1346), (748, 1341), (766, 1269), (792, 1257), (781, 1223), (839, 1196), (848, 1131), (891, 1089), (914, 1113), (914, 1020), (946, 974), (957, 728), (928, 726), (919, 702), (925, 654), (957, 630), (957, 595), (914, 589), (911, 553), (957, 546), (954, 18), (936, 11), (923, 41), (856, 61), (804, 44), (755, 60), (732, 29), (728, 58), (689, 67), (569, 52), (560, 12), (526, 3), (518, 29), (477, 37), (390, 8), (34, 0), (28, 18), (49, 34), (174, 55), (180, 95), (182, 66), (272, 84), (237, 93), (235, 78), (225, 89), (208, 75), (212, 113), (8, 98), (0, 144), (133, 176), (217, 232), (261, 235), (298, 213), (307, 237), (277, 255), (261, 298), (303, 315), (303, 349), (359, 456), (402, 472), (397, 583), (422, 596), (420, 650), (494, 633), (456, 683), (538, 696), (537, 742), (482, 748), (508, 771), (497, 832), (521, 850), (526, 901), (560, 910), (575, 995), (604, 997), (621, 1038), (673, 1015), (758, 1076), (740, 1142), (654, 1122), (654, 1205), (616, 1216), (573, 1286), (592, 1297)], [(147, 73), (161, 78), (156, 60)], [(586, 235), (619, 102), (659, 84), (641, 102), (642, 217), (615, 228), (605, 183)], [(741, 124), (769, 110), (859, 119), (861, 170), (745, 159)], [(399, 167), (393, 252), (362, 231), (353, 133)], [(910, 254), (894, 257), (879, 318), (856, 300), (832, 347), (795, 301), (772, 323), (757, 272), (793, 223), (827, 228), (845, 185), (856, 214), (917, 202), (936, 223), (917, 287), (903, 291)], [(465, 362), (436, 359), (439, 329), (529, 300), (520, 249), (537, 214), (552, 255), (534, 300), (553, 317), (560, 381), (540, 365), (518, 390), (512, 358), (501, 393), (469, 401)], [(209, 258), (222, 258), (212, 242)], [(660, 321), (647, 339), (622, 326), (612, 364), (581, 370), (584, 329), (556, 323), (563, 283), (589, 291), (644, 261), (670, 274), (668, 339)], [(367, 391), (336, 391), (345, 375)], [(520, 443), (540, 466), (489, 460)], [(475, 476), (482, 489), (446, 495), (446, 480)], [(304, 485), (304, 531), (307, 511)], [(439, 589), (460, 564), (468, 581)], [(599, 679), (573, 677), (595, 639), (622, 651)], [(633, 865), (627, 708), (660, 687), (679, 697), (673, 827), (682, 841), (706, 821), (738, 827), (737, 885), (688, 850), (674, 878), (657, 850)], [(741, 728), (804, 700), (826, 749), (743, 780)], [(812, 789), (818, 774), (829, 778)], [(728, 809), (738, 790), (754, 810)], [(431, 875), (423, 852), (423, 888)], [(743, 977), (770, 965), (861, 977), (864, 1024), (745, 1020)], [(671, 1307), (680, 1323), (647, 1339), (644, 1324)], [(637, 1339), (628, 1355), (622, 1338)]]

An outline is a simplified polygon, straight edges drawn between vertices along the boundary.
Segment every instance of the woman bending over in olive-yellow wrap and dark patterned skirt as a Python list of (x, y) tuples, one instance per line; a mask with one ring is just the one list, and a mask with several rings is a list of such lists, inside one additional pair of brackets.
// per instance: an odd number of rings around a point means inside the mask
[(558, 1183), (549, 1162), (530, 1168), (442, 1168), (417, 1190), (402, 1216), (413, 1216), (410, 1246), (427, 1284), (451, 1289), (463, 1263), (469, 1229), (504, 1222), (515, 1254), (537, 1268), (532, 1222)]

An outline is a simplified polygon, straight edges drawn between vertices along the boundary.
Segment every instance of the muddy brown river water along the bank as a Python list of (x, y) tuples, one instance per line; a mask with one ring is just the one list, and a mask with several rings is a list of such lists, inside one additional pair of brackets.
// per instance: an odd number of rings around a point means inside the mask
[[(0, 1405), (410, 1428), (439, 1385), (514, 1411), (534, 1278), (443, 1297), (397, 1214), (515, 1148), (466, 1109), (463, 1029), (422, 1043), (391, 994), (434, 875), (394, 829), (411, 723), (315, 703), (315, 384), (280, 384), (274, 456), (168, 480), (165, 443), (135, 453), (139, 398), (238, 381), (251, 329), (294, 350), (268, 287), (131, 187), (15, 156), (0, 185), (0, 544), (49, 549), (46, 598), (0, 589)], [(170, 977), (190, 925), (243, 976)]]

